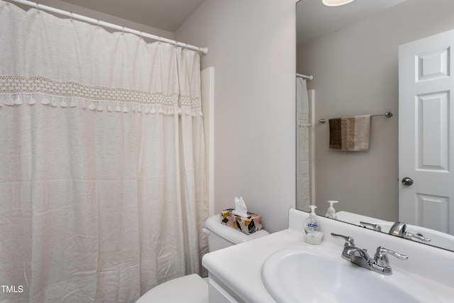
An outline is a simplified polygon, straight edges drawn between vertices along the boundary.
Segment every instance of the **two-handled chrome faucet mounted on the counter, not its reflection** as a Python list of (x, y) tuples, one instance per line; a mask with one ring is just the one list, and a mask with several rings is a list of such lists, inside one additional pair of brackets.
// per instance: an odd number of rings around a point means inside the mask
[(408, 259), (406, 255), (402, 255), (400, 253), (396, 253), (394, 250), (389, 250), (383, 246), (379, 246), (377, 247), (374, 259), (372, 260), (366, 249), (361, 249), (355, 246), (355, 241), (352, 237), (339, 235), (337, 233), (331, 233), (331, 236), (343, 238), (345, 240), (342, 250), (342, 258), (355, 265), (361, 266), (362, 268), (380, 272), (383, 275), (392, 274), (391, 266), (389, 266), (388, 254), (394, 255), (394, 257), (400, 260)]

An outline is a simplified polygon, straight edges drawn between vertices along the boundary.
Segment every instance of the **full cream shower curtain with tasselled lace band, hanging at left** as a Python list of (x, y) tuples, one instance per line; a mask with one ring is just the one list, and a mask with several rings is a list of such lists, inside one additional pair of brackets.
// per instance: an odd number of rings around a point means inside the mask
[(0, 1), (0, 129), (0, 302), (134, 302), (201, 272), (198, 53)]

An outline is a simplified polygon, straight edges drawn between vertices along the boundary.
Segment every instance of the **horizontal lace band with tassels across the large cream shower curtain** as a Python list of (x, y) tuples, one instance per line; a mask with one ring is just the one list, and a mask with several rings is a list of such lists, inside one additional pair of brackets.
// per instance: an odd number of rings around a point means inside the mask
[[(179, 94), (141, 92), (133, 89), (94, 87), (61, 82), (45, 77), (0, 76), (0, 94), (8, 94), (8, 106), (36, 104), (60, 107), (88, 107), (92, 111), (132, 111), (145, 114), (184, 114), (201, 116), (201, 99)], [(78, 105), (79, 104), (79, 105)], [(1, 106), (1, 104), (0, 104)]]

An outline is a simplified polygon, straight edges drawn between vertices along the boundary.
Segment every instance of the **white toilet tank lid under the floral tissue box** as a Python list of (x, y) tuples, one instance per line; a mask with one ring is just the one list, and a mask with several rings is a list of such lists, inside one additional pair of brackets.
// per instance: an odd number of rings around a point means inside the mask
[(221, 224), (221, 215), (215, 214), (214, 216), (210, 216), (205, 221), (205, 226), (210, 231), (217, 233), (219, 236), (225, 238), (228, 241), (231, 241), (234, 244), (250, 241), (255, 238), (260, 238), (262, 236), (267, 236), (268, 233), (265, 230), (256, 231), (255, 233), (251, 233), (250, 235), (246, 235), (241, 231), (237, 231), (229, 226)]

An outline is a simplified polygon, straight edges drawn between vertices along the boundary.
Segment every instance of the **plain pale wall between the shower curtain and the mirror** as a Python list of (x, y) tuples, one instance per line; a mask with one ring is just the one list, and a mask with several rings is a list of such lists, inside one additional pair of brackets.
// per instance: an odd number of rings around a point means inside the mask
[(206, 0), (175, 38), (214, 66), (214, 212), (242, 196), (264, 228), (295, 205), (295, 1)]

